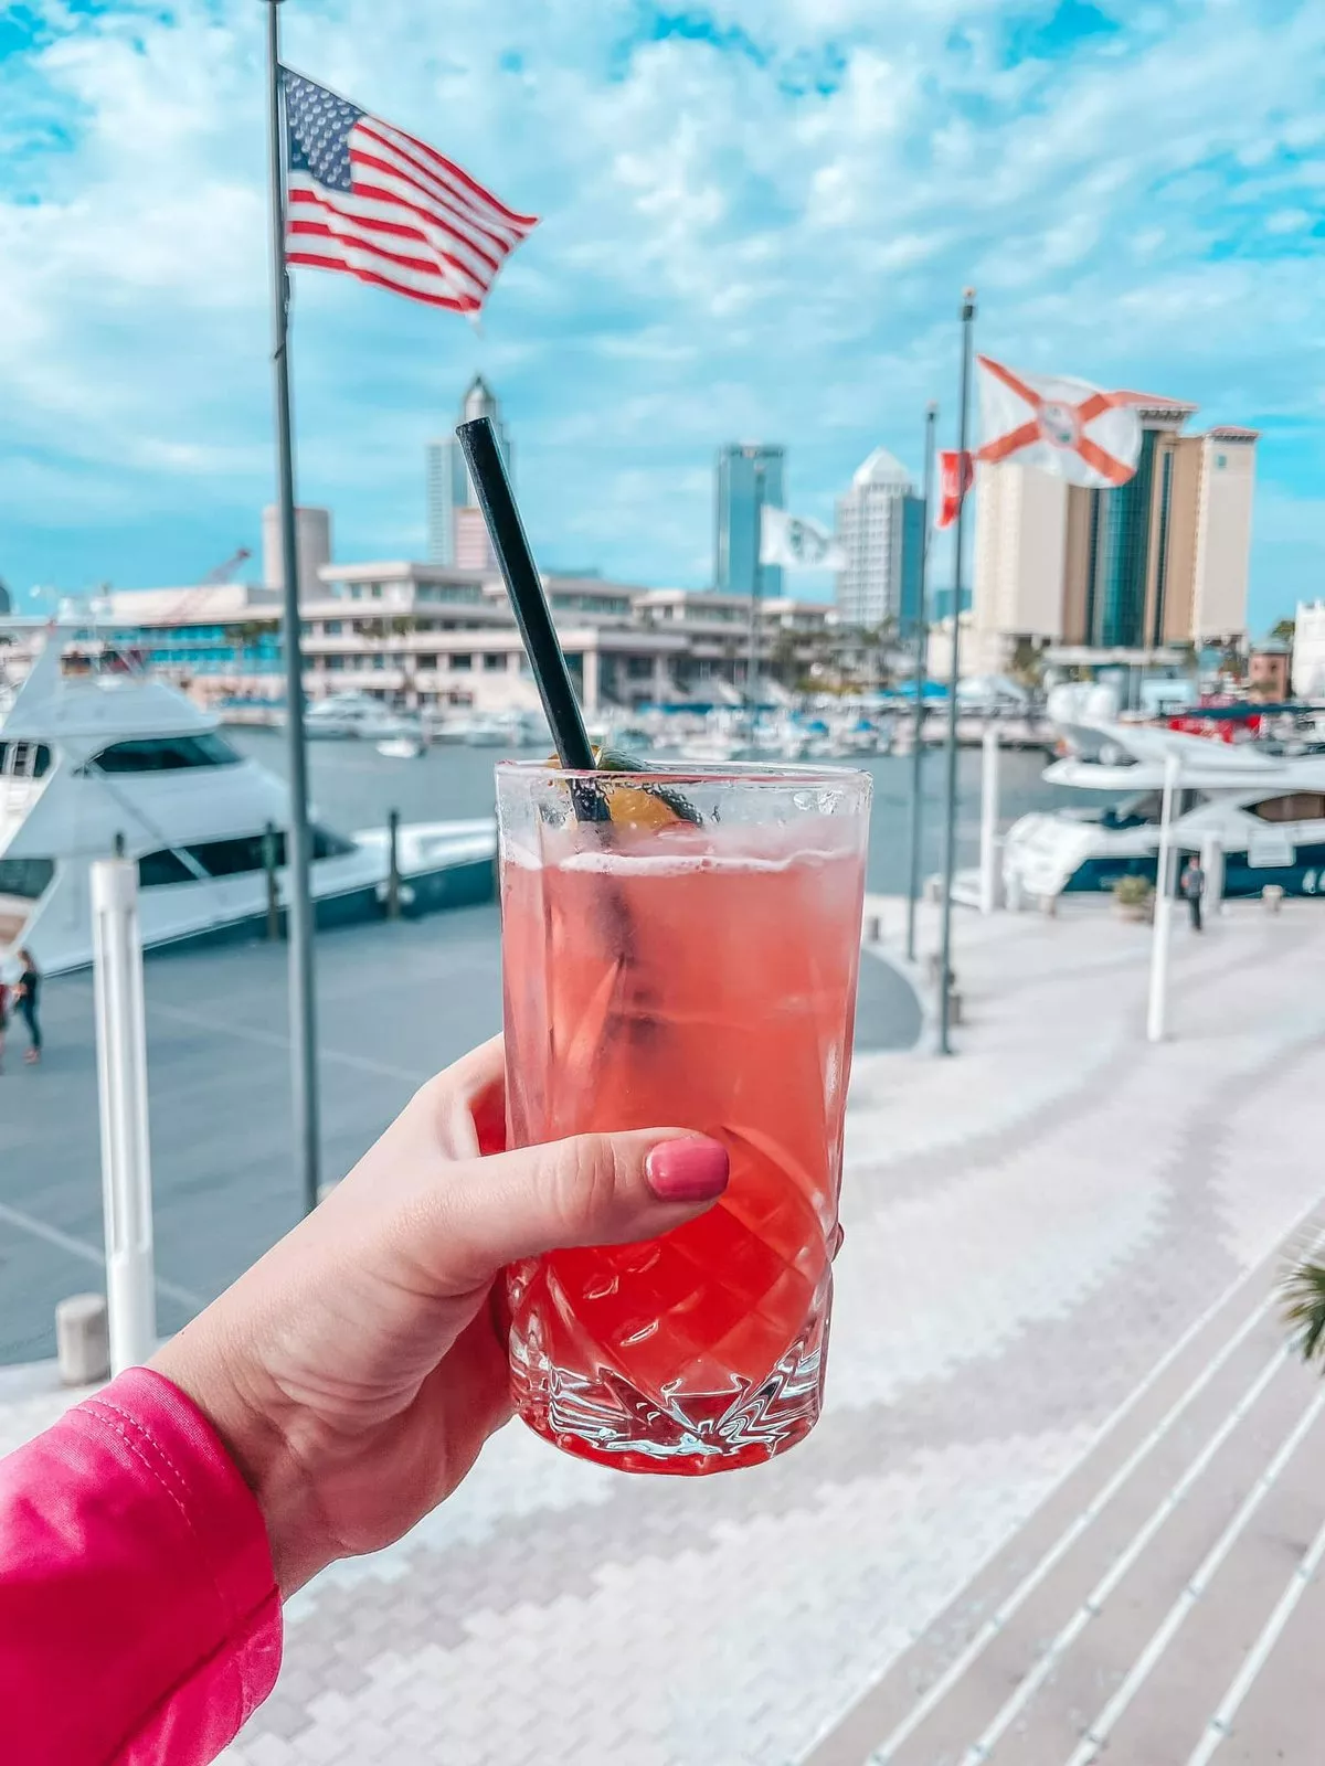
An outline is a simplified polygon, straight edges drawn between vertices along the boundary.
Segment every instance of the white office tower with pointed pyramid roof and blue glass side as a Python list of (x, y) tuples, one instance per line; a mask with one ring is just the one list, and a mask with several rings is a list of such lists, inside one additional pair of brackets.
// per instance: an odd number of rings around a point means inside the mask
[(843, 625), (878, 629), (892, 622), (899, 638), (915, 632), (924, 565), (924, 502), (906, 468), (874, 449), (837, 500), (837, 540), (846, 569), (837, 576)]

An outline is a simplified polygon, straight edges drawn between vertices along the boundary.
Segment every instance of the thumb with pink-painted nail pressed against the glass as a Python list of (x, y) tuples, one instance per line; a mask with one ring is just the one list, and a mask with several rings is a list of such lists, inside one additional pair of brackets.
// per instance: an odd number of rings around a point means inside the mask
[(723, 1143), (684, 1128), (581, 1134), (465, 1160), (429, 1196), (429, 1261), (447, 1284), (473, 1287), (542, 1250), (657, 1238), (712, 1206), (726, 1181)]

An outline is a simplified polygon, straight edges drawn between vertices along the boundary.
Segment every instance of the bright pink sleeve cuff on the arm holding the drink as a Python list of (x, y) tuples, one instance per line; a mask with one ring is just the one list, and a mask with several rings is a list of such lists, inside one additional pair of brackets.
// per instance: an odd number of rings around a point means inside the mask
[(5, 1759), (201, 1766), (279, 1665), (261, 1513), (168, 1379), (131, 1369), (0, 1460)]

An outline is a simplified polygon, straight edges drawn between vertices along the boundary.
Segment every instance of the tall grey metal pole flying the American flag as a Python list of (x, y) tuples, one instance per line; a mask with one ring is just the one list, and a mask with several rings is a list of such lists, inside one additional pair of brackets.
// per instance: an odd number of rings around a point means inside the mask
[(290, 927), (290, 1083), (295, 1164), (304, 1210), (318, 1206), (318, 1035), (313, 977), (311, 837), (307, 752), (304, 747), (304, 657), (299, 632), (299, 546), (295, 540), (295, 461), (290, 438), (290, 275), (284, 261), (284, 127), (281, 115), (281, 30), (267, 0), (267, 145), (272, 219), (272, 380), (276, 399), (277, 505), (281, 514), (281, 638), (290, 765), (286, 920)]

